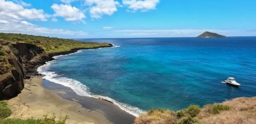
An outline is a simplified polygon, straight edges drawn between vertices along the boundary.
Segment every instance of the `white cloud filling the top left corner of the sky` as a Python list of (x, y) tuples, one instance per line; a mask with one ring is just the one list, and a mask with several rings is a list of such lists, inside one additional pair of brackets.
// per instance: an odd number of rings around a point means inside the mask
[(48, 17), (49, 15), (44, 14), (44, 11), (41, 9), (27, 9), (11, 1), (0, 0), (0, 20), (19, 21), (30, 19), (46, 21)]

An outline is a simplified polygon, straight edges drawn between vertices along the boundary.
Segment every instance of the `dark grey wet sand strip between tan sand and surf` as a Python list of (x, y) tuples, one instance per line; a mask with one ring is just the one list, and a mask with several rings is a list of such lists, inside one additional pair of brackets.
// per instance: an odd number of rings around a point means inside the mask
[(71, 88), (65, 87), (60, 84), (50, 82), (48, 80), (43, 81), (43, 87), (49, 90), (56, 90), (59, 92), (66, 92), (66, 94), (59, 94), (63, 99), (69, 101), (76, 101), (82, 105), (82, 107), (89, 109), (91, 112), (96, 111), (103, 114), (106, 119), (114, 124), (132, 124), (135, 116), (123, 111), (113, 103), (97, 99), (93, 97), (79, 96)]

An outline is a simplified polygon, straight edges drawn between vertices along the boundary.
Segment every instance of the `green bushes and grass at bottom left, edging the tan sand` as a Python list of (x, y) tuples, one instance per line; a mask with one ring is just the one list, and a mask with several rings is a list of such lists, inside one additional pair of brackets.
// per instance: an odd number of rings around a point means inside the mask
[(0, 124), (66, 124), (68, 116), (60, 117), (56, 119), (53, 115), (49, 117), (47, 114), (41, 119), (12, 119), (7, 118), (12, 114), (12, 111), (7, 107), (6, 102), (0, 102)]

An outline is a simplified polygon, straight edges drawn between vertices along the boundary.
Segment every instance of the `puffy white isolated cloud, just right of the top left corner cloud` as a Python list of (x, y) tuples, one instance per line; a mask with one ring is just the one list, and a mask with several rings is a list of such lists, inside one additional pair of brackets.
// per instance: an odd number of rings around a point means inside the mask
[(84, 22), (85, 15), (78, 8), (72, 7), (68, 4), (53, 4), (51, 8), (54, 10), (54, 17), (63, 17), (67, 21), (80, 21)]

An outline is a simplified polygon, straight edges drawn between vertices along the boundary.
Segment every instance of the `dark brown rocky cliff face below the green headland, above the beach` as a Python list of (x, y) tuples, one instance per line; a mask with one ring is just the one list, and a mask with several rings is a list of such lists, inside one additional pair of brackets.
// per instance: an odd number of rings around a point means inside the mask
[[(0, 77), (0, 99), (13, 97), (24, 88), (24, 78), (38, 75), (36, 69), (52, 60), (41, 47), (27, 43), (11, 44), (17, 53), (9, 54), (8, 62), (14, 67), (11, 72)], [(15, 55), (14, 55), (15, 54)]]

